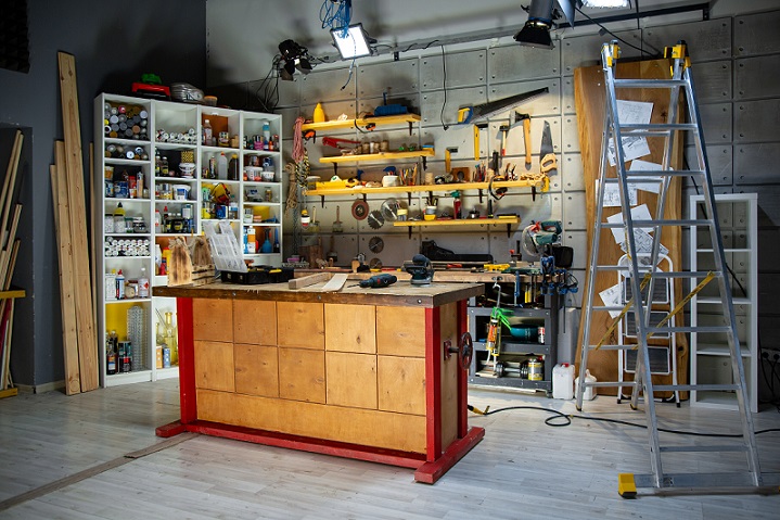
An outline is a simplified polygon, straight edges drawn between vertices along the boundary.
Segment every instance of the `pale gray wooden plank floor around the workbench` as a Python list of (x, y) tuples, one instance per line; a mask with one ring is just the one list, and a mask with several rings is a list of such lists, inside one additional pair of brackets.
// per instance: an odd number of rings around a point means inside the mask
[[(473, 389), (470, 403), (575, 413), (573, 402)], [(584, 413), (644, 418), (606, 396), (587, 402)], [(673, 429), (738, 431), (734, 413), (683, 404), (660, 405), (658, 414), (662, 426)], [(636, 499), (621, 498), (618, 472), (650, 472), (645, 431), (577, 419), (551, 428), (544, 423), (548, 415), (522, 409), (471, 417), (471, 424), (485, 427), (484, 441), (438, 483), (425, 485), (414, 483), (407, 469), (192, 434), (125, 458), (163, 442), (154, 428), (178, 417), (176, 380), (71, 397), (21, 394), (0, 399), (0, 519), (779, 518), (777, 494), (640, 490)], [(755, 418), (757, 430), (780, 428), (776, 410)], [(672, 442), (703, 442), (675, 437)], [(762, 469), (780, 472), (780, 433), (757, 439)], [(666, 469), (744, 467), (737, 458), (709, 457), (678, 456)], [(68, 479), (95, 467), (97, 474)], [(41, 489), (60, 479), (65, 480)], [(20, 495), (28, 499), (10, 506)]]

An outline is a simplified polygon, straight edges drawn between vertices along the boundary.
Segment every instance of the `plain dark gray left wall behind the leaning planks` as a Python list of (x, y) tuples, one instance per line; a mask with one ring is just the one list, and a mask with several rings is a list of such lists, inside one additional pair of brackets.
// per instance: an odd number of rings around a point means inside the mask
[[(27, 291), (18, 303), (11, 370), (16, 383), (39, 386), (64, 377), (60, 291), (49, 164), (63, 138), (56, 52), (76, 56), (85, 168), (92, 140), (92, 99), (127, 93), (141, 74), (163, 81), (205, 85), (205, 1), (137, 0), (28, 2), (30, 71), (0, 69), (0, 164), (4, 175), (11, 127), (27, 128), (18, 236), (23, 239), (14, 283)], [(85, 175), (88, 175), (86, 169)], [(87, 181), (85, 177), (85, 181)]]

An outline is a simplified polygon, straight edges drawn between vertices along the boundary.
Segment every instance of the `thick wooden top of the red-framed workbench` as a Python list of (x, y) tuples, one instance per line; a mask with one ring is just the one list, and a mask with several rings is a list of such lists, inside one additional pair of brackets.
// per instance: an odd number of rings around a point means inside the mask
[[(155, 296), (210, 297), (231, 300), (269, 300), (278, 302), (315, 302), (357, 305), (383, 305), (400, 307), (438, 307), (459, 302), (485, 292), (482, 283), (438, 282), (430, 286), (412, 286), (406, 280), (386, 288), (359, 287), (363, 277), (350, 277), (341, 291), (322, 292), (324, 282), (304, 289), (290, 289), (287, 283), (242, 286), (216, 282), (200, 287), (155, 287)], [(435, 280), (435, 278), (434, 278)]]

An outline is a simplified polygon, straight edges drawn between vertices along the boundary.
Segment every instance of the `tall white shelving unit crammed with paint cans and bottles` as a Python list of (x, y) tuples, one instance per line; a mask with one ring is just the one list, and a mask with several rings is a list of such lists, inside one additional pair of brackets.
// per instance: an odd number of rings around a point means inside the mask
[[(106, 117), (106, 106), (108, 113)], [(116, 109), (112, 114), (111, 109)], [(116, 118), (112, 118), (116, 115)], [(125, 117), (120, 117), (124, 115)], [(122, 121), (120, 121), (122, 119)], [(208, 119), (213, 136), (217, 142), (204, 144), (202, 130)], [(254, 229), (257, 250), (247, 252), (245, 259), (255, 265), (280, 266), (282, 263), (282, 215), (283, 178), (281, 140), (276, 139), (273, 150), (255, 149), (254, 137), (264, 136), (264, 124), (272, 136), (281, 136), (282, 119), (274, 114), (212, 107), (197, 104), (170, 101), (148, 100), (126, 96), (100, 94), (94, 99), (95, 125), (95, 193), (99, 200), (95, 206), (94, 237), (98, 276), (98, 334), (99, 344), (105, 344), (105, 335), (117, 331), (119, 341), (127, 339), (127, 312), (135, 305), (143, 310), (144, 337), (142, 366), (133, 366), (126, 373), (106, 373), (105, 348), (100, 348), (101, 384), (110, 386), (140, 381), (178, 377), (178, 367), (157, 368), (155, 358), (155, 330), (158, 316), (166, 312), (176, 315), (174, 299), (133, 297), (118, 301), (106, 299), (106, 278), (104, 275), (122, 269), (127, 280), (136, 280), (145, 269), (151, 287), (167, 283), (165, 276), (157, 275), (155, 245), (167, 248), (174, 237), (200, 234), (206, 221), (228, 220), (235, 232), (239, 244), (245, 243), (250, 229)], [(127, 131), (129, 129), (130, 131)], [(219, 145), (220, 132), (227, 132), (228, 141)], [(120, 157), (110, 156), (107, 147), (120, 147)], [(128, 158), (128, 152), (139, 156)], [(209, 158), (225, 153), (228, 160), (234, 154), (239, 164), (235, 178), (210, 178)], [(116, 150), (114, 149), (114, 154)], [(165, 157), (170, 174), (155, 172), (156, 156)], [(192, 178), (183, 178), (179, 164), (195, 164)], [(246, 166), (257, 165), (259, 170), (266, 164), (266, 177), (251, 179), (246, 177)], [(138, 178), (142, 174), (143, 191), (127, 195), (112, 196), (106, 188), (107, 167), (114, 181), (119, 182), (124, 175)], [(268, 178), (270, 175), (273, 178)], [(129, 187), (128, 187), (129, 188)], [(227, 192), (227, 194), (226, 194)], [(215, 195), (223, 195), (217, 204)], [(229, 200), (228, 200), (229, 199)], [(138, 217), (145, 226), (145, 232), (114, 232), (106, 229), (106, 216), (114, 214), (118, 204), (125, 208), (126, 217)], [(167, 213), (174, 223), (167, 230), (164, 221), (155, 227), (158, 212), (163, 220)], [(252, 220), (252, 221), (250, 221)], [(124, 231), (124, 230), (123, 230)], [(268, 239), (268, 243), (266, 242)], [(110, 256), (106, 254), (106, 241), (141, 241), (148, 245), (149, 254), (136, 256)], [(265, 248), (264, 248), (265, 245)], [(110, 281), (108, 281), (110, 283)], [(151, 288), (150, 288), (151, 289)]]

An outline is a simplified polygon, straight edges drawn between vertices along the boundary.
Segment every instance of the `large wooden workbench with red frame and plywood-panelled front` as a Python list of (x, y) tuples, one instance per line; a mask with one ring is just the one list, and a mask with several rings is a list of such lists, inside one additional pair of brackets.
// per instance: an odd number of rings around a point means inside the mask
[(484, 286), (323, 284), (154, 288), (177, 299), (181, 401), (157, 435), (383, 462), (434, 483), (485, 434), (469, 428), (457, 352)]

